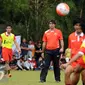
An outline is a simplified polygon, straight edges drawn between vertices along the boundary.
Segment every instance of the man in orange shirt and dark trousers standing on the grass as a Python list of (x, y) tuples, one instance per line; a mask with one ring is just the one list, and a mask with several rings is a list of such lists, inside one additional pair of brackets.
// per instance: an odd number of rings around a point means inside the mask
[(49, 22), (49, 29), (45, 31), (43, 35), (42, 51), (43, 53), (45, 52), (46, 55), (44, 57), (45, 63), (40, 74), (41, 83), (46, 82), (46, 76), (51, 61), (53, 61), (55, 80), (60, 82), (59, 59), (60, 52), (63, 52), (64, 50), (64, 42), (62, 32), (59, 29), (56, 29), (55, 25), (55, 20), (51, 20)]

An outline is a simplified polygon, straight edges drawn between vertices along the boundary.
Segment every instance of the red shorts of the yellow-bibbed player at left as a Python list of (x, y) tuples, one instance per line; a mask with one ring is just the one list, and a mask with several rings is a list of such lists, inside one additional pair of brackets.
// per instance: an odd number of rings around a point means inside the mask
[(2, 57), (4, 61), (12, 60), (12, 49), (2, 48)]

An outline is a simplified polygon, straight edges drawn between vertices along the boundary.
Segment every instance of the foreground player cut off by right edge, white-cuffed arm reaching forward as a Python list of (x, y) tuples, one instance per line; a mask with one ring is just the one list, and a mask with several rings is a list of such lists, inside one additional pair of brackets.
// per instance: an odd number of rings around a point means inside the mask
[[(81, 27), (81, 30), (85, 35), (85, 25), (83, 23), (79, 23), (79, 27)], [(85, 56), (83, 56), (85, 54), (85, 38), (82, 42), (83, 43), (80, 46), (78, 52), (71, 58), (71, 60), (68, 63), (62, 65), (63, 68), (66, 68), (65, 85), (77, 85), (79, 79), (77, 80), (76, 84), (74, 84), (70, 79), (70, 75), (72, 74), (73, 71), (75, 71), (76, 74), (83, 72), (83, 82), (84, 82), (84, 85), (85, 85), (85, 77), (84, 77), (85, 70), (83, 70), (83, 69), (85, 69)], [(71, 69), (72, 65), (75, 62), (76, 62), (76, 65), (74, 66), (73, 69)], [(67, 68), (69, 68), (71, 70), (69, 74), (68, 74), (69, 71), (67, 71)], [(78, 76), (75, 75), (75, 78), (73, 78), (73, 77), (72, 78), (74, 79), (74, 81), (76, 81), (77, 77)]]

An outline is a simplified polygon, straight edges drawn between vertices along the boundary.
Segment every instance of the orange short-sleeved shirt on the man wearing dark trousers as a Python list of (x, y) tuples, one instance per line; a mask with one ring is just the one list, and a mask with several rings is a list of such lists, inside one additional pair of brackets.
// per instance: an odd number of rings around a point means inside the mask
[(47, 42), (46, 49), (53, 50), (59, 48), (59, 40), (62, 40), (62, 32), (58, 29), (47, 30), (43, 36), (43, 42)]

